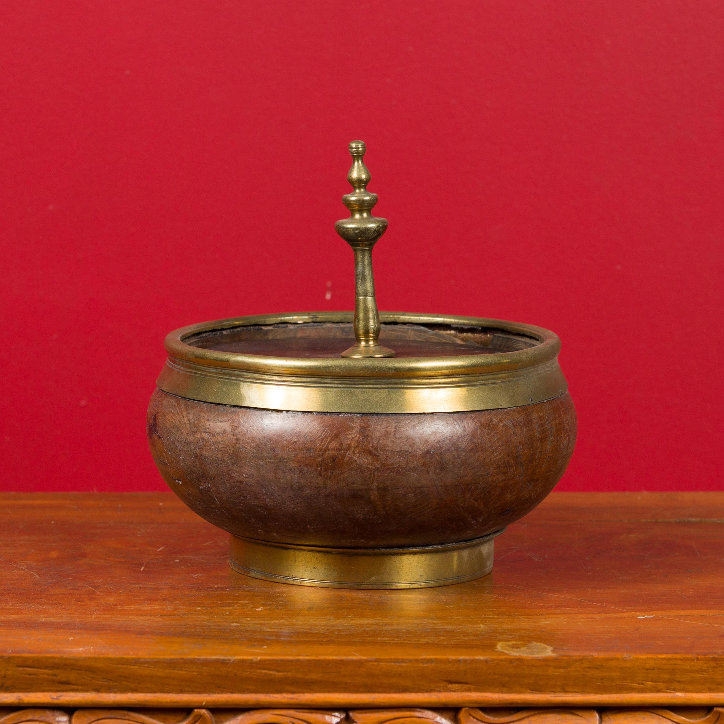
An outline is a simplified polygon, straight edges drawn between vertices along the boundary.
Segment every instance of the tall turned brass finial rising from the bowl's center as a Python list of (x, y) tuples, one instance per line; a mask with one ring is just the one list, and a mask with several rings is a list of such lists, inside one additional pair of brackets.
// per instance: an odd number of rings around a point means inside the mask
[(355, 253), (355, 339), (356, 344), (342, 357), (394, 357), (395, 353), (377, 344), (379, 337), (379, 313), (374, 298), (374, 277), (372, 274), (372, 247), (387, 231), (387, 219), (372, 216), (372, 207), (377, 203), (376, 193), (367, 190), (370, 175), (362, 157), (367, 150), (363, 141), (350, 143), (352, 168), (347, 180), (354, 191), (342, 196), (342, 202), (350, 210), (350, 218), (334, 224), (342, 239)]

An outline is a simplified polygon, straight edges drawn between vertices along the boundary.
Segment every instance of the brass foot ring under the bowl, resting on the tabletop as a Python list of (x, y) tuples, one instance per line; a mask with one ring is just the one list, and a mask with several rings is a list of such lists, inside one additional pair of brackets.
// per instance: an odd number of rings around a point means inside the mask
[(494, 537), (408, 548), (325, 548), (231, 536), (229, 562), (239, 573), (299, 586), (408, 589), (472, 581), (493, 567)]

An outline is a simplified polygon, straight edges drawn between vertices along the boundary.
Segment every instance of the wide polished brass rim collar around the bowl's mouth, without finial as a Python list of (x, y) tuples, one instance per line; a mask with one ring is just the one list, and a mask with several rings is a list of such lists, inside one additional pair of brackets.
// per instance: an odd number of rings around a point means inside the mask
[(489, 410), (544, 402), (568, 385), (557, 362), (558, 337), (498, 319), (383, 312), (382, 324), (451, 324), (531, 337), (523, 350), (428, 358), (285, 358), (207, 350), (185, 340), (251, 325), (351, 322), (350, 312), (264, 314), (194, 324), (166, 337), (159, 388), (201, 402), (270, 410), (426, 413)]

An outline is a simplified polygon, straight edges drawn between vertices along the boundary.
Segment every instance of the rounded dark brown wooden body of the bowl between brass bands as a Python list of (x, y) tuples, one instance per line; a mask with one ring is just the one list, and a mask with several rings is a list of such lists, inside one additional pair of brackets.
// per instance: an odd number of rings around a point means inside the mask
[(156, 390), (148, 439), (172, 491), (235, 535), (416, 546), (477, 538), (532, 510), (568, 465), (576, 413), (568, 392), (503, 410), (363, 415)]

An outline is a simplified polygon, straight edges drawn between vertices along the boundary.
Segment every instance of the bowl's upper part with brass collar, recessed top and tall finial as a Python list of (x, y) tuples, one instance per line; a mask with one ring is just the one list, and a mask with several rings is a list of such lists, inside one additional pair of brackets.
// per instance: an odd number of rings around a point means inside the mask
[(331, 413), (487, 410), (562, 395), (560, 340), (547, 329), (378, 313), (371, 251), (387, 220), (371, 215), (377, 196), (366, 190), (364, 144), (353, 141), (350, 153), (350, 218), (335, 229), (354, 251), (354, 314), (266, 314), (177, 329), (166, 338), (159, 388), (207, 403)]

